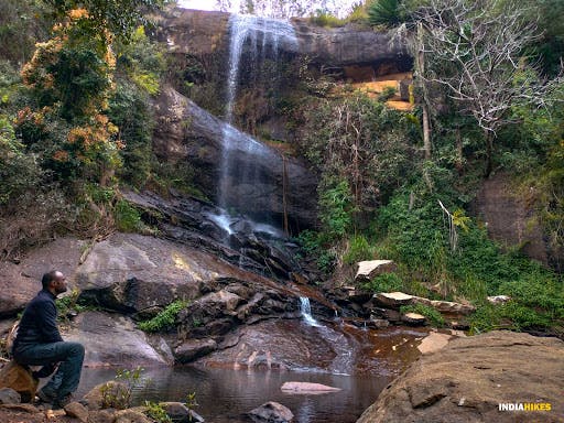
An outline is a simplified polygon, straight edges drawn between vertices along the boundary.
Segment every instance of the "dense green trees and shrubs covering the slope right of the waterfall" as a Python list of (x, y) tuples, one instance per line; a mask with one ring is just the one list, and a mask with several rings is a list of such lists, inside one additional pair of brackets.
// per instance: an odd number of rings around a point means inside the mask
[[(395, 31), (415, 56), (433, 54), (415, 59), (419, 107), (413, 113), (392, 111), (361, 95), (315, 96), (303, 108), (300, 142), (322, 175), (322, 230), (303, 232), (301, 239), (335, 282), (351, 283), (343, 278), (351, 278), (347, 269), (358, 260), (393, 259), (395, 274), (364, 288), (469, 301), (478, 306), (474, 332), (551, 328), (562, 335), (564, 85), (555, 69), (564, 32), (546, 8), (563, 9), (550, 1), (529, 6), (492, 0), (367, 3), (371, 25)], [(521, 32), (503, 40), (494, 26), (509, 25), (510, 17), (520, 20)], [(491, 34), (480, 32), (486, 29)], [(473, 36), (481, 44), (474, 45)], [(470, 52), (484, 45), (489, 51), (473, 57)], [(449, 46), (460, 56), (445, 58)], [(496, 62), (499, 57), (490, 56), (496, 50), (511, 59)], [(495, 66), (487, 75), (492, 79), (478, 74), (488, 64)], [(485, 110), (491, 111), (481, 115)], [(429, 142), (424, 119), (432, 128)], [(505, 174), (516, 198), (532, 205), (530, 225), (542, 227), (552, 270), (524, 258), (523, 246), (508, 248), (488, 239), (484, 224), (470, 216), (477, 189), (494, 173)], [(512, 301), (489, 304), (486, 297), (497, 294)]]

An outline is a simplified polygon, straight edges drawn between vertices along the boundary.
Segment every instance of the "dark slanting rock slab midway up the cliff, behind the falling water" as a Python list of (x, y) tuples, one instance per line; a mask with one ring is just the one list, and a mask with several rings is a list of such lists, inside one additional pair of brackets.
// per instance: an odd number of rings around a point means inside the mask
[[(317, 178), (300, 160), (284, 158), (239, 132), (172, 87), (163, 87), (155, 109), (156, 155), (166, 162), (188, 161), (197, 169), (199, 188), (209, 197), (219, 197), (217, 182), (223, 180), (225, 203), (240, 213), (280, 226), (285, 213), (295, 228), (315, 226)], [(221, 175), (226, 143), (232, 174)], [(252, 183), (245, 175), (252, 176)]]

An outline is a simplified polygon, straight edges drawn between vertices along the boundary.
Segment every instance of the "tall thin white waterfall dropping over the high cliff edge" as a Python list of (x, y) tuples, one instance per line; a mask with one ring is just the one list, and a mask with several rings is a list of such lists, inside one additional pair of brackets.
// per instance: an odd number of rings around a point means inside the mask
[[(218, 204), (224, 210), (237, 208), (237, 200), (241, 200), (241, 193), (234, 192), (236, 180), (241, 191), (251, 191), (260, 182), (261, 175), (258, 163), (265, 154), (272, 154), (270, 149), (249, 137), (249, 143), (245, 149), (238, 147), (238, 151), (253, 155), (252, 160), (246, 160), (245, 164), (236, 162), (237, 153), (234, 147), (234, 107), (237, 100), (237, 88), (241, 76), (241, 57), (245, 53), (250, 63), (250, 80), (256, 80), (260, 73), (260, 64), (267, 57), (278, 61), (279, 51), (296, 52), (299, 48), (297, 37), (293, 26), (288, 21), (264, 19), (251, 15), (232, 14), (229, 18), (230, 42), (229, 42), (229, 73), (227, 77), (227, 104), (225, 120), (228, 123), (223, 130), (223, 152), (219, 172)], [(249, 75), (247, 75), (249, 76)], [(254, 79), (253, 79), (254, 78)], [(237, 165), (235, 165), (237, 163)], [(236, 197), (236, 198), (234, 198)]]

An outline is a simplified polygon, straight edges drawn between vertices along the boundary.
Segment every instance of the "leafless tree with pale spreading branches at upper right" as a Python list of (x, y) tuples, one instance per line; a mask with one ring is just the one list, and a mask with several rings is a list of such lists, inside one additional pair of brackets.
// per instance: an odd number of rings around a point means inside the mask
[(535, 22), (511, 0), (429, 0), (414, 18), (433, 62), (422, 76), (446, 87), (460, 111), (484, 130), (489, 175), (496, 133), (516, 122), (510, 110), (516, 105), (544, 106), (560, 83), (539, 80), (524, 55), (539, 40)]

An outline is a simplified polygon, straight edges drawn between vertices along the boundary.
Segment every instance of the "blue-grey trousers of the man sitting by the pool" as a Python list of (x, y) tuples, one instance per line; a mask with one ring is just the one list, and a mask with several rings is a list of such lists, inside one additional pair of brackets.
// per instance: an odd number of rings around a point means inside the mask
[(45, 366), (61, 362), (56, 373), (42, 391), (59, 401), (76, 391), (83, 370), (84, 347), (78, 343), (35, 344), (18, 347), (14, 359), (20, 365)]

